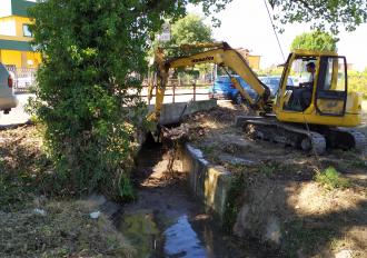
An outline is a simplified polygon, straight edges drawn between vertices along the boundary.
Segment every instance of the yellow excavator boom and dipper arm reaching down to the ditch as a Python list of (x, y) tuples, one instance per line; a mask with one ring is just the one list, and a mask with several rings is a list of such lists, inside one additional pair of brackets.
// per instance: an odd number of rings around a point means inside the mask
[(194, 48), (214, 48), (205, 50), (202, 52), (187, 56), (167, 59), (163, 49), (158, 48), (155, 57), (155, 68), (156, 68), (156, 81), (149, 86), (149, 96), (151, 98), (152, 88), (157, 87), (156, 95), (156, 108), (152, 113), (149, 115), (148, 120), (159, 120), (159, 115), (165, 97), (165, 89), (169, 77), (169, 69), (171, 68), (182, 68), (192, 67), (200, 63), (216, 63), (218, 66), (228, 67), (240, 76), (258, 95), (257, 99), (252, 99), (246, 90), (240, 86), (240, 82), (231, 77), (231, 82), (238, 89), (242, 98), (245, 98), (250, 106), (259, 111), (268, 112), (271, 109), (269, 101), (270, 90), (264, 85), (256, 73), (248, 66), (245, 58), (235, 49), (230, 48), (228, 43), (201, 43), (197, 46), (185, 44), (180, 47), (181, 49), (194, 49)]

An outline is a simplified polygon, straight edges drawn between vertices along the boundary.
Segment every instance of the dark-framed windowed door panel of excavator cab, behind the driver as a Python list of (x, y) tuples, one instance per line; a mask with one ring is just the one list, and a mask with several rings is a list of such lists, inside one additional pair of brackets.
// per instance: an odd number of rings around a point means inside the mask
[(315, 107), (321, 116), (343, 117), (347, 102), (345, 57), (320, 57)]

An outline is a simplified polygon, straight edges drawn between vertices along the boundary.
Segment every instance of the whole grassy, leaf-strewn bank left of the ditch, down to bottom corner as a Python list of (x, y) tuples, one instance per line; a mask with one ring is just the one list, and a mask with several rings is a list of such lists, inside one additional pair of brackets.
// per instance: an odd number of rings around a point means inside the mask
[(0, 257), (135, 257), (106, 217), (89, 217), (99, 207), (59, 202), (72, 192), (42, 151), (40, 131), (0, 130)]

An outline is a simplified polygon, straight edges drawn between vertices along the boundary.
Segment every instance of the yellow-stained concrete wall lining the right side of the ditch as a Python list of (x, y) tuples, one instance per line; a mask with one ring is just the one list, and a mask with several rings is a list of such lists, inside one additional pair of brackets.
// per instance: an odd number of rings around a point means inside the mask
[(186, 143), (182, 148), (182, 168), (188, 173), (191, 194), (221, 220), (224, 218), (227, 192), (231, 175), (222, 167), (212, 166), (204, 159), (202, 152)]

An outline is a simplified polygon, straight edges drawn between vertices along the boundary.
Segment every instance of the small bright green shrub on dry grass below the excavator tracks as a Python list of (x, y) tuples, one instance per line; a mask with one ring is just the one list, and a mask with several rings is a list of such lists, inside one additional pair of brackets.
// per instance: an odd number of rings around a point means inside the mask
[(347, 188), (350, 185), (349, 180), (341, 177), (340, 173), (333, 167), (329, 167), (321, 172), (317, 172), (315, 180), (327, 189)]

